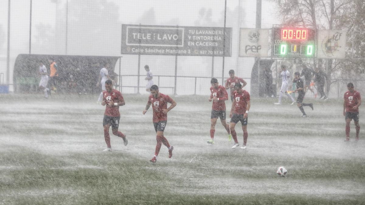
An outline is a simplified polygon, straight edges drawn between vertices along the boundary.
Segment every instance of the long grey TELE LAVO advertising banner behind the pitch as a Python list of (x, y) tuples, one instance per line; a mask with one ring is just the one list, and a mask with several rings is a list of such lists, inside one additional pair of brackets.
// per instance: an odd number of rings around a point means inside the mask
[(123, 24), (121, 53), (230, 57), (231, 39), (232, 28)]

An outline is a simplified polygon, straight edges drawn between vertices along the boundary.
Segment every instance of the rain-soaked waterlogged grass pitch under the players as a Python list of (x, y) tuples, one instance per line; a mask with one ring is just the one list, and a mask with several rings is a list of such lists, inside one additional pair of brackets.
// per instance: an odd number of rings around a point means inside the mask
[[(97, 96), (0, 95), (0, 204), (365, 204), (364, 106), (360, 140), (345, 139), (342, 101), (295, 105), (251, 99), (247, 149), (231, 149), (219, 120), (210, 139), (208, 96), (172, 96), (165, 136), (152, 164), (155, 132), (147, 95), (125, 95), (119, 130), (103, 134)], [(227, 113), (231, 103), (226, 101)], [(229, 119), (227, 119), (229, 121)], [(243, 132), (236, 126), (240, 143)], [(276, 169), (285, 166), (287, 177)]]

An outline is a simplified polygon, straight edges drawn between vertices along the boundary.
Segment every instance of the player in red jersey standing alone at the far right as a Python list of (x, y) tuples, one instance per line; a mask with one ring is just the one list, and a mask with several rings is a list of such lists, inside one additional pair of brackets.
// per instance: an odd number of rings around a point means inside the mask
[(346, 139), (345, 142), (350, 141), (350, 122), (354, 119), (356, 128), (356, 140), (359, 140), (359, 106), (361, 105), (360, 93), (354, 90), (354, 84), (351, 82), (347, 84), (347, 91), (343, 95), (343, 116), (346, 120)]

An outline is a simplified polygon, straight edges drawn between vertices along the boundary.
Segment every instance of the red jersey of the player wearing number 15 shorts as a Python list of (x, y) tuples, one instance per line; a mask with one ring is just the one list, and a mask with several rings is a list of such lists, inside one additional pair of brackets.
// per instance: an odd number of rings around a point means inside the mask
[(157, 123), (158, 121), (165, 121), (167, 120), (167, 114), (162, 112), (163, 109), (167, 109), (167, 103), (172, 104), (172, 98), (170, 96), (160, 93), (158, 98), (153, 97), (150, 95), (148, 97), (148, 102), (151, 103), (153, 109), (153, 118), (152, 121)]

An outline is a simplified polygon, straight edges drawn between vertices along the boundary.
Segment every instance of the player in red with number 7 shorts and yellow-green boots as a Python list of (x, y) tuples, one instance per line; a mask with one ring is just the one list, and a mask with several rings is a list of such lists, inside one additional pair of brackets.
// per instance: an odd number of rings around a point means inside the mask
[(228, 133), (228, 141), (231, 142), (232, 135), (229, 129), (229, 125), (226, 123), (226, 103), (224, 101), (228, 100), (228, 94), (226, 88), (219, 85), (216, 78), (212, 78), (210, 81), (212, 87), (210, 88), (211, 94), (209, 97), (209, 102), (213, 100), (212, 112), (210, 115), (210, 140), (207, 141), (208, 144), (214, 144), (214, 132), (215, 124), (217, 123), (218, 117), (223, 127), (226, 128)]

